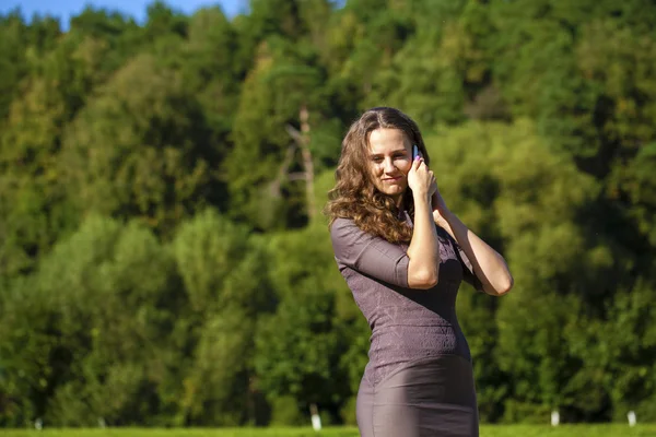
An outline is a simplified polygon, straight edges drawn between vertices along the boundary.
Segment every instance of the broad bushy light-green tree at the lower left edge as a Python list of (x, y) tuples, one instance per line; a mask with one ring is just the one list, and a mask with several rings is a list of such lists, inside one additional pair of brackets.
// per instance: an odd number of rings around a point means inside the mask
[(167, 421), (155, 400), (179, 359), (166, 351), (185, 300), (174, 260), (147, 228), (91, 217), (21, 284), (3, 305), (17, 318), (3, 317), (1, 328), (9, 387), (33, 414), (21, 421)]

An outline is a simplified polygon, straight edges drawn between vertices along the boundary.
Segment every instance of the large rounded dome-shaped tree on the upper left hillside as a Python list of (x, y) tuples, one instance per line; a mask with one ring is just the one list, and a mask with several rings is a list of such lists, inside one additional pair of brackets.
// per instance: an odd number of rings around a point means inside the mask
[(140, 217), (157, 232), (225, 194), (210, 169), (216, 151), (179, 74), (133, 59), (67, 130), (58, 169), (80, 212)]

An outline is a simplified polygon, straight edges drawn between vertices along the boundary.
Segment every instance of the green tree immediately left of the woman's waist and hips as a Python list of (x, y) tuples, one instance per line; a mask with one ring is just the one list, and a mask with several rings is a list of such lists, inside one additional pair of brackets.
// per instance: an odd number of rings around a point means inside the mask
[[(258, 324), (257, 385), (273, 406), (291, 398), (297, 411), (316, 403), (337, 417), (352, 394), (347, 381), (353, 363), (344, 363), (343, 354), (354, 336), (347, 329), (354, 304), (344, 302), (350, 296), (331, 259), (329, 234), (323, 225), (280, 234), (269, 253), (279, 305)], [(276, 408), (272, 420), (280, 421)]]

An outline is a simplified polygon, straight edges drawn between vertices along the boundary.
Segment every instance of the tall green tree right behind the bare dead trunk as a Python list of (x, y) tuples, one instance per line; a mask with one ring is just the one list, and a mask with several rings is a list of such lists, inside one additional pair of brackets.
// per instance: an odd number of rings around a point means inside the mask
[[(325, 157), (339, 144), (324, 98), (325, 72), (315, 64), (316, 54), (300, 46), (281, 39), (262, 44), (235, 118), (234, 150), (225, 163), (232, 208), (235, 218), (259, 229), (298, 227), (308, 220), (323, 161), (315, 152)], [(260, 160), (255, 167), (254, 157)]]

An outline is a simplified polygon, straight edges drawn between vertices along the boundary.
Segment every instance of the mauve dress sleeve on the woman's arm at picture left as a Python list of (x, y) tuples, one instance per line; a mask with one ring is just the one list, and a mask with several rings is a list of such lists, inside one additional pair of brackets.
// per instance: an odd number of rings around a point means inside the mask
[(408, 253), (398, 245), (360, 229), (351, 220), (337, 218), (330, 238), (338, 262), (393, 285), (408, 287)]

